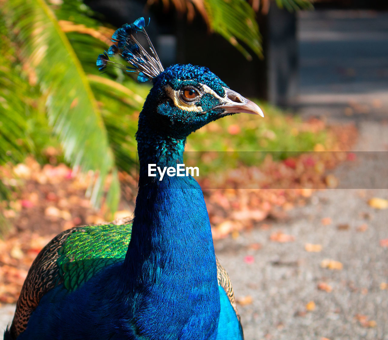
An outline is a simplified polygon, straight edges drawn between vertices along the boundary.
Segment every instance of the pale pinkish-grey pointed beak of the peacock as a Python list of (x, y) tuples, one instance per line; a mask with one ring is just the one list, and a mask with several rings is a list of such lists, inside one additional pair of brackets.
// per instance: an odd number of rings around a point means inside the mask
[(222, 98), (224, 103), (215, 109), (224, 109), (223, 113), (250, 113), (264, 117), (262, 109), (254, 102), (242, 97), (240, 93), (230, 90), (230, 88), (223, 87), (223, 89), (225, 90), (225, 96)]

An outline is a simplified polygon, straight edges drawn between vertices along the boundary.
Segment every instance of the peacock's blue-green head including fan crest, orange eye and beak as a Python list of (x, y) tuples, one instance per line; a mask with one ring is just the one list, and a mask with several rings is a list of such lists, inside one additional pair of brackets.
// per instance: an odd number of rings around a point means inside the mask
[[(175, 64), (163, 69), (144, 27), (144, 18), (139, 18), (116, 30), (112, 36), (115, 44), (97, 59), (100, 71), (113, 65), (136, 72), (139, 82), (152, 81), (139, 116), (139, 128), (146, 124), (155, 133), (185, 138), (211, 121), (232, 114), (245, 112), (264, 117), (258, 105), (228, 88), (207, 67)], [(147, 50), (137, 41), (138, 32), (147, 38)], [(130, 66), (116, 62), (117, 57), (123, 57)]]

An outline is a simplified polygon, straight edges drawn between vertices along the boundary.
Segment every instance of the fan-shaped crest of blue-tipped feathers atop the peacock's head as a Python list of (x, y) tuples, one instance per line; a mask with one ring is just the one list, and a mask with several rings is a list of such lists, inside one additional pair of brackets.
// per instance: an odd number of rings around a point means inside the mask
[[(111, 45), (108, 51), (100, 54), (97, 58), (96, 64), (99, 70), (103, 71), (108, 65), (111, 65), (127, 72), (135, 72), (138, 74), (137, 81), (140, 83), (151, 80), (163, 72), (163, 66), (145, 31), (145, 26), (145, 20), (141, 17), (132, 24), (125, 24), (117, 29), (112, 36), (114, 45)], [(135, 38), (138, 32), (143, 33), (147, 39), (148, 46), (146, 48)], [(130, 66), (121, 64), (117, 60), (120, 57), (126, 60)]]

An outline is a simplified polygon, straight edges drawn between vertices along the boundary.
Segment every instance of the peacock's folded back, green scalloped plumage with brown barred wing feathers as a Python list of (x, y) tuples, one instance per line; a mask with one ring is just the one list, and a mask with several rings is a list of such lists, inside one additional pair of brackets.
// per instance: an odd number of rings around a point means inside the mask
[(81, 226), (55, 236), (38, 254), (24, 281), (10, 333), (23, 332), (45, 293), (59, 285), (72, 291), (101, 269), (123, 261), (132, 224)]

